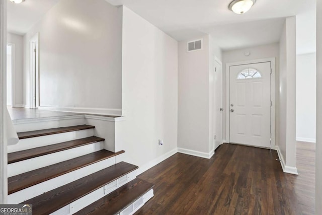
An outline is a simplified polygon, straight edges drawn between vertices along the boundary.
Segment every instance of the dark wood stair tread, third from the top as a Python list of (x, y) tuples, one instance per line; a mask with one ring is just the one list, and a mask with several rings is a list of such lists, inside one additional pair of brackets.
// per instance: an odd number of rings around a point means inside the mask
[(39, 184), (46, 180), (58, 177), (60, 175), (69, 173), (71, 171), (86, 167), (88, 165), (94, 164), (96, 162), (114, 157), (116, 155), (122, 154), (124, 151), (120, 152), (110, 152), (107, 150), (101, 150), (91, 154), (87, 154), (81, 157), (63, 161), (57, 164), (53, 164), (47, 167), (36, 169), (30, 172), (22, 173), (8, 178), (8, 194), (17, 192), (19, 190), (31, 187), (35, 184)]

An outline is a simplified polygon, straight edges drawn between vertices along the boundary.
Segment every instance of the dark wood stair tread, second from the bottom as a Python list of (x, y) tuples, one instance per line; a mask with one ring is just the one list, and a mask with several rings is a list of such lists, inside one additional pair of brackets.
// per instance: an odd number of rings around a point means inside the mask
[(34, 214), (49, 214), (137, 168), (135, 165), (120, 162), (24, 201), (21, 204), (32, 204)]

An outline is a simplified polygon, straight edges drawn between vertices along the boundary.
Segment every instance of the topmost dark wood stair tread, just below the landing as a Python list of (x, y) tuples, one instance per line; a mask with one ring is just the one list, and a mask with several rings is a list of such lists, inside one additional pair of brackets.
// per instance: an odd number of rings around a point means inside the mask
[(25, 139), (25, 138), (30, 138), (30, 137), (45, 136), (45, 135), (50, 135), (50, 134), (64, 133), (64, 132), (70, 132), (70, 131), (76, 131), (76, 130), (84, 130), (84, 129), (90, 129), (90, 128), (95, 128), (95, 126), (92, 126), (92, 125), (75, 125), (75, 126), (68, 126), (68, 127), (50, 128), (50, 129), (44, 129), (44, 130), (34, 130), (34, 131), (19, 132), (17, 134), (18, 134), (19, 139)]

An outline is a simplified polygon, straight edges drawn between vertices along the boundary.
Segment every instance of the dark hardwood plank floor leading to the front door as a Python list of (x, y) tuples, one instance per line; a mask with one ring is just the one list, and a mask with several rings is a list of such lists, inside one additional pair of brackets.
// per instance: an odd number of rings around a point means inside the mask
[(154, 184), (154, 197), (136, 214), (314, 214), (314, 166), (298, 165), (296, 176), (276, 159), (274, 150), (230, 144), (209, 160), (177, 153), (138, 176)]

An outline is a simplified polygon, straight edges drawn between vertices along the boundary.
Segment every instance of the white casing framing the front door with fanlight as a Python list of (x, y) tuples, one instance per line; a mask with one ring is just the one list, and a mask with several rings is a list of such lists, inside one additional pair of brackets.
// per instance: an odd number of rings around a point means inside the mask
[(230, 112), (229, 101), (230, 101), (230, 66), (245, 65), (253, 63), (270, 62), (272, 75), (271, 75), (271, 149), (275, 149), (275, 127), (276, 127), (276, 64), (275, 57), (262, 58), (247, 61), (238, 61), (226, 63), (226, 141), (230, 142), (229, 131), (230, 131)]

